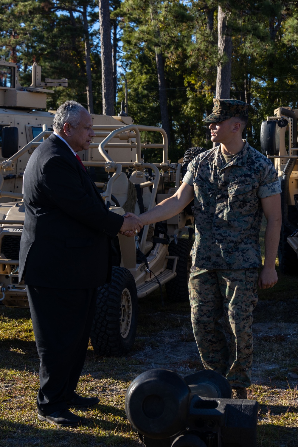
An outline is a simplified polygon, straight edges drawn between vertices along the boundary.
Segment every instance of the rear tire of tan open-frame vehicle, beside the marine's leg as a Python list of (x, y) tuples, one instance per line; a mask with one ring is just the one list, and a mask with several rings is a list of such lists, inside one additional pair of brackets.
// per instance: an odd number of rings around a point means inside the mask
[[(190, 239), (177, 239), (177, 245), (175, 241), (168, 246), (169, 256), (179, 256), (176, 265), (177, 275), (166, 283), (166, 292), (169, 299), (176, 302), (188, 301), (189, 299), (189, 274), (192, 265), (192, 259), (190, 257), (190, 250), (192, 249), (193, 241)], [(167, 269), (173, 268), (173, 261), (168, 260)]]

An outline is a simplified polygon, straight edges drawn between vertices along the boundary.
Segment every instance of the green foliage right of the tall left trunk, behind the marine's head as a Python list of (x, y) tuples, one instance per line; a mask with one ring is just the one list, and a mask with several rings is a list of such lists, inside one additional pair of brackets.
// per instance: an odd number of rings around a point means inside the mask
[[(191, 145), (211, 145), (202, 118), (212, 110), (218, 64), (218, 3), (178, 3), (155, 1), (153, 8), (150, 1), (124, 0), (119, 11), (130, 111), (136, 122), (160, 125), (154, 46), (163, 53), (172, 160)], [(220, 4), (231, 12), (231, 97), (250, 104), (247, 135), (260, 149), (261, 121), (279, 105), (296, 108), (297, 8), (294, 2), (281, 1)]]

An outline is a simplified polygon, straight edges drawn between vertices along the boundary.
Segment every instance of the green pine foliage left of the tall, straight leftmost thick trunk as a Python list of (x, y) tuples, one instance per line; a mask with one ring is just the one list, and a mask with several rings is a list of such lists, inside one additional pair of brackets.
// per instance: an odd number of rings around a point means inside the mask
[[(42, 66), (42, 78), (68, 78), (68, 88), (57, 88), (48, 95), (48, 109), (55, 110), (66, 99), (76, 99), (86, 105), (84, 33), (82, 17), (76, 12), (80, 11), (82, 2), (62, 5), (43, 0), (10, 3), (0, 0), (0, 4), (0, 51), (7, 60), (20, 63), (21, 84), (31, 84), (29, 68), (37, 62)], [(101, 113), (101, 59), (95, 39), (91, 51), (95, 110)]]

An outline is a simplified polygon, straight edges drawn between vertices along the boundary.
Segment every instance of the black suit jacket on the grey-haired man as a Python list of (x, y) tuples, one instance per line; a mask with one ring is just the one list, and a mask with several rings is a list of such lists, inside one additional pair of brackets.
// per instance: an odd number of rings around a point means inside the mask
[(24, 174), (25, 223), (19, 277), (36, 287), (92, 288), (109, 276), (109, 237), (123, 217), (105, 207), (68, 146), (50, 135)]

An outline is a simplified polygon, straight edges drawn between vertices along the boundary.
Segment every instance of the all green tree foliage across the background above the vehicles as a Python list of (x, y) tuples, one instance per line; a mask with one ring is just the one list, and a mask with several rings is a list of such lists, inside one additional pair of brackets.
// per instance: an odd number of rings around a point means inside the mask
[[(48, 108), (67, 98), (87, 102), (83, 5), (87, 6), (95, 113), (102, 111), (101, 58), (96, 0), (0, 0), (0, 52), (21, 66), (21, 82), (31, 82), (30, 66), (42, 66), (42, 77), (68, 78), (67, 89), (49, 95)], [(298, 7), (294, 1), (113, 0), (111, 21), (118, 24), (116, 110), (124, 100), (123, 71), (129, 114), (139, 124), (161, 126), (155, 52), (163, 55), (171, 127), (172, 161), (192, 145), (211, 147), (208, 127), (218, 65), (218, 4), (229, 10), (231, 97), (247, 101), (249, 142), (260, 148), (260, 124), (280, 105), (297, 108)], [(143, 135), (157, 142), (156, 135)], [(158, 140), (159, 142), (160, 140)], [(159, 151), (144, 151), (147, 161)]]

